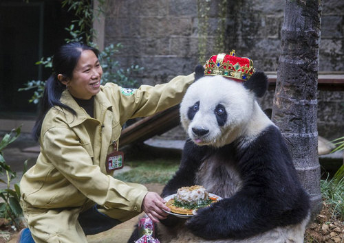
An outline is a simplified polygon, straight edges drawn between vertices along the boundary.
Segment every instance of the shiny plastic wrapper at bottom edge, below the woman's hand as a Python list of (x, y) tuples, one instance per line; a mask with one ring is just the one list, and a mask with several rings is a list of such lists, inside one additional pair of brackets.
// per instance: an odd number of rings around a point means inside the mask
[(138, 235), (139, 239), (135, 243), (160, 243), (158, 239), (154, 238), (154, 223), (147, 215), (138, 220)]

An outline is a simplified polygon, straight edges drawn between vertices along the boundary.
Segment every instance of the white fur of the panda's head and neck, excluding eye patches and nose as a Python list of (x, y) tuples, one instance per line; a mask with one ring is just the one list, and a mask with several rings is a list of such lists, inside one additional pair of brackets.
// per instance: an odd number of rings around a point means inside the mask
[[(200, 111), (190, 121), (187, 113), (195, 101), (200, 101)], [(217, 104), (223, 104), (228, 111), (224, 126), (218, 126), (214, 116)], [(189, 137), (199, 146), (222, 147), (240, 136), (253, 138), (266, 126), (273, 125), (261, 111), (252, 91), (248, 91), (241, 83), (229, 81), (222, 76), (206, 76), (191, 85), (182, 100), (180, 117)], [(197, 136), (192, 131), (195, 127), (206, 128), (210, 132), (202, 137), (202, 141), (197, 141)]]

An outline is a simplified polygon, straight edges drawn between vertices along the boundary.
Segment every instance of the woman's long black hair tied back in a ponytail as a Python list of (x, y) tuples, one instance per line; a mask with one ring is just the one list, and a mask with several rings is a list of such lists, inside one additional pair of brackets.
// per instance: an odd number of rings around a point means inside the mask
[(60, 106), (76, 115), (76, 112), (72, 108), (62, 104), (60, 101), (61, 94), (66, 87), (58, 80), (57, 76), (58, 74), (62, 74), (65, 78), (72, 79), (73, 70), (76, 67), (81, 52), (85, 50), (91, 50), (97, 57), (99, 56), (98, 49), (80, 42), (67, 43), (61, 46), (56, 54), (54, 54), (52, 58), (53, 73), (45, 82), (45, 89), (41, 101), (41, 110), (39, 111), (39, 117), (36, 119), (36, 124), (34, 124), (34, 128), (32, 129), (32, 135), (36, 141), (41, 135), (41, 128), (45, 114), (47, 114), (47, 111), (49, 111), (53, 106)]

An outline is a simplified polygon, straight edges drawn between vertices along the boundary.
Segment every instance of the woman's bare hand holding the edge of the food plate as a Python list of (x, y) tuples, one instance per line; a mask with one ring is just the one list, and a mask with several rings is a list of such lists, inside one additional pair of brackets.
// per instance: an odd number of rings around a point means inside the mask
[(165, 219), (168, 215), (168, 213), (162, 211), (162, 209), (170, 211), (169, 207), (164, 205), (164, 203), (166, 203), (165, 200), (158, 194), (155, 192), (148, 192), (143, 198), (142, 210), (153, 222), (159, 222), (159, 220)]

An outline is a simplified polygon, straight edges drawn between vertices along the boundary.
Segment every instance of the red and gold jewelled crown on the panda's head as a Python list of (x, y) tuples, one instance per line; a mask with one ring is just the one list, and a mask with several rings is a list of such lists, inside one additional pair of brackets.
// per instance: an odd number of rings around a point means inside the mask
[(239, 58), (235, 56), (235, 50), (230, 54), (217, 54), (206, 61), (204, 75), (224, 76), (233, 78), (239, 82), (245, 82), (255, 72), (253, 62), (250, 58)]

